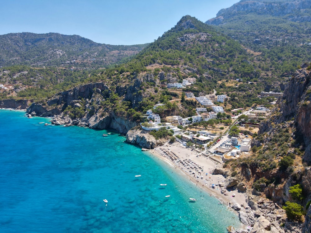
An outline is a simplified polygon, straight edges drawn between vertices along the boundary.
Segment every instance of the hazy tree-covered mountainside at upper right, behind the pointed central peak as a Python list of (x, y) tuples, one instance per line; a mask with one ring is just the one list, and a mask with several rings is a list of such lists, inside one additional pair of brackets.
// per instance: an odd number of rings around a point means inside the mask
[(308, 1), (258, 0), (240, 1), (206, 23), (255, 52), (261, 70), (286, 82), (283, 77), (311, 60), (310, 21)]

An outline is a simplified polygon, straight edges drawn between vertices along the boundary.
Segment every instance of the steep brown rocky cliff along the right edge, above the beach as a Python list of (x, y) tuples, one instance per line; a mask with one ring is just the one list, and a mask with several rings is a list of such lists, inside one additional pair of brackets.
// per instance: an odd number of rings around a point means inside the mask
[[(282, 155), (281, 146), (272, 149), (271, 154), (276, 154), (278, 161), (284, 156), (293, 156), (295, 153), (294, 166), (289, 165), (286, 171), (281, 169), (273, 169), (269, 174), (274, 174), (280, 179), (281, 184), (270, 184), (265, 189), (267, 197), (279, 204), (284, 204), (290, 199), (289, 187), (295, 184), (300, 184), (304, 190), (304, 200), (300, 204), (304, 207), (311, 200), (311, 65), (304, 64), (302, 69), (297, 70), (284, 91), (284, 94), (279, 98), (276, 107), (271, 113), (270, 119), (263, 121), (260, 125), (258, 140), (253, 142), (253, 145), (264, 146), (266, 150), (273, 143), (274, 138), (281, 139), (278, 136), (287, 130), (291, 132), (288, 148), (285, 154)], [(283, 129), (283, 130), (282, 130)], [(284, 136), (284, 135), (283, 135)], [(285, 144), (283, 144), (284, 146)], [(273, 152), (276, 151), (276, 152)], [(295, 152), (296, 151), (296, 152)], [(301, 153), (299, 153), (301, 151)], [(299, 155), (299, 156), (297, 156)], [(301, 161), (302, 160), (302, 161)], [(256, 171), (252, 173), (256, 174)], [(268, 177), (264, 175), (264, 177)], [(282, 182), (283, 180), (283, 182)], [(306, 209), (302, 232), (311, 232), (311, 208)]]

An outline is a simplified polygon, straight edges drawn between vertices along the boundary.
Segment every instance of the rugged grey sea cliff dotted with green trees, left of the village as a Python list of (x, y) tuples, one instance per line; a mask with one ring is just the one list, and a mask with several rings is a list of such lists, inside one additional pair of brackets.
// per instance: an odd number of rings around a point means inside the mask
[(137, 126), (137, 122), (100, 107), (110, 92), (104, 83), (82, 85), (58, 93), (46, 104), (32, 103), (27, 112), (40, 117), (53, 117), (52, 124), (56, 125), (87, 126), (92, 129), (110, 128), (126, 134), (128, 130)]

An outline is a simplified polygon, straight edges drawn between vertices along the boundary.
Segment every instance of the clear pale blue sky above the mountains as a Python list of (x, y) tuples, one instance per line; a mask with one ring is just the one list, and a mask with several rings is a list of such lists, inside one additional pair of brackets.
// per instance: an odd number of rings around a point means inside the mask
[(4, 0), (0, 34), (80, 35), (97, 43), (153, 42), (182, 16), (205, 22), (239, 0)]

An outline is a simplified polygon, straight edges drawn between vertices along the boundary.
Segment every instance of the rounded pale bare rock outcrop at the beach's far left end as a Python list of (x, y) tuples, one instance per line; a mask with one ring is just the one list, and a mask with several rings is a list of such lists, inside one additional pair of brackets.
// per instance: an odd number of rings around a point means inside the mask
[(148, 131), (142, 129), (129, 130), (126, 134), (126, 141), (147, 149), (153, 149), (159, 145), (159, 142)]

